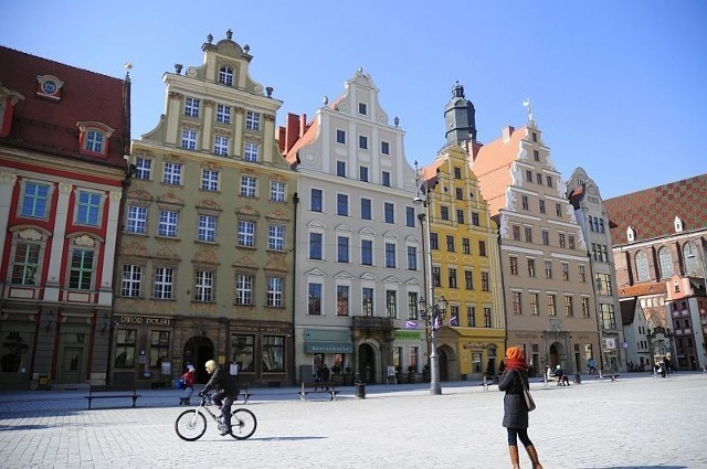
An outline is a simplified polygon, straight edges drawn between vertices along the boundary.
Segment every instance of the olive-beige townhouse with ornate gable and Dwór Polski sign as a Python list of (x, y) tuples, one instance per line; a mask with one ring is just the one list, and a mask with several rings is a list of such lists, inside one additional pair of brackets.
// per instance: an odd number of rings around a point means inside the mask
[(293, 198), (276, 143), (282, 102), (229, 30), (162, 77), (165, 114), (131, 146), (109, 375), (170, 385), (215, 360), (242, 384), (292, 385)]

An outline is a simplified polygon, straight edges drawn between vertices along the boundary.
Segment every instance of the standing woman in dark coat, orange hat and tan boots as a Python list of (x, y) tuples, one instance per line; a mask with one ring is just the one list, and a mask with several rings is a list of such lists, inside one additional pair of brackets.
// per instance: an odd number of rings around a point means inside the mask
[(528, 365), (526, 364), (526, 353), (520, 347), (509, 347), (504, 359), (506, 369), (498, 381), (498, 391), (505, 391), (504, 396), (504, 422), (503, 425), (508, 431), (508, 452), (514, 469), (520, 467), (518, 456), (518, 439), (526, 447), (528, 456), (532, 461), (534, 469), (542, 469), (538, 452), (528, 438), (528, 407), (523, 395), (523, 390), (528, 388)]

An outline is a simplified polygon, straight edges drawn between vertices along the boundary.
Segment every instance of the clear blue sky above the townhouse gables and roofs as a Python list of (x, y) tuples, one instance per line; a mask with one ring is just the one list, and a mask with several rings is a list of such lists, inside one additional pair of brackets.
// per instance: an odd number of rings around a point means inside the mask
[(703, 0), (3, 3), (2, 45), (116, 77), (134, 64), (133, 138), (158, 122), (162, 74), (200, 65), (207, 34), (231, 29), (252, 78), (284, 102), (279, 124), (314, 116), (362, 67), (411, 163), (444, 145), (458, 81), (479, 141), (523, 126), (529, 97), (557, 169), (583, 167), (604, 199), (707, 172)]

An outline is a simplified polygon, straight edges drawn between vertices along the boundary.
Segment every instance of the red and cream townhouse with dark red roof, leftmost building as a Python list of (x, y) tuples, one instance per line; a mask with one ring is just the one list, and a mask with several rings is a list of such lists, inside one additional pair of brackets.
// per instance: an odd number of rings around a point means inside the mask
[(130, 81), (0, 47), (0, 388), (104, 384)]

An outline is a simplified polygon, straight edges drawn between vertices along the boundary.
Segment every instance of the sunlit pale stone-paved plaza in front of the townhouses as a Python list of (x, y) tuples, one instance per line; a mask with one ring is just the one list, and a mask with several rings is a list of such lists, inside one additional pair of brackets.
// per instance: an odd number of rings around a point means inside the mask
[[(189, 443), (175, 433), (177, 390), (145, 390), (137, 408), (82, 391), (0, 393), (0, 468), (509, 468), (503, 393), (479, 383), (342, 388), (336, 402), (299, 402), (295, 388), (252, 390), (249, 440), (210, 422)], [(707, 376), (584, 377), (531, 391), (529, 436), (546, 469), (707, 468)], [(125, 405), (129, 405), (129, 398)], [(521, 468), (530, 462), (521, 451)]]

